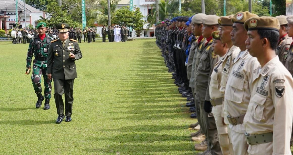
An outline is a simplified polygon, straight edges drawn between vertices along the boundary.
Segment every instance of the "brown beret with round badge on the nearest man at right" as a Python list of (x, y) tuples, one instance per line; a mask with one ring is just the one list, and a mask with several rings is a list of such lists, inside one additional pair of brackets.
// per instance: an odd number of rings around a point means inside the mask
[(279, 31), (280, 23), (275, 17), (251, 17), (245, 21), (244, 27), (248, 30), (276, 30)]

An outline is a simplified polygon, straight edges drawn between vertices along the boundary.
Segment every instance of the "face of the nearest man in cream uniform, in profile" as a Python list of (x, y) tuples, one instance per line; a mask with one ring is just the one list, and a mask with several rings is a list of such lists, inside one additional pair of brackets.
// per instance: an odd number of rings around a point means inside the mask
[(257, 30), (247, 32), (248, 37), (245, 41), (246, 49), (251, 56), (258, 57), (263, 53), (263, 41), (260, 39)]

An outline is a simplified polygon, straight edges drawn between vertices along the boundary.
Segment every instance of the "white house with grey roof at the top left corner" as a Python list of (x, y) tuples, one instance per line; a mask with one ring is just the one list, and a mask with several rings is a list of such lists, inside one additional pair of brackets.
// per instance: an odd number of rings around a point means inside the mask
[[(29, 24), (34, 27), (38, 25), (37, 20), (40, 19), (40, 16), (47, 18), (45, 12), (40, 11), (28, 4), (25, 5), (24, 11), (24, 2), (18, 0), (18, 24), (19, 28), (25, 27), (25, 24)], [(25, 15), (26, 13), (26, 21)], [(5, 30), (7, 33), (9, 29), (16, 26), (16, 0), (0, 0), (0, 29)]]

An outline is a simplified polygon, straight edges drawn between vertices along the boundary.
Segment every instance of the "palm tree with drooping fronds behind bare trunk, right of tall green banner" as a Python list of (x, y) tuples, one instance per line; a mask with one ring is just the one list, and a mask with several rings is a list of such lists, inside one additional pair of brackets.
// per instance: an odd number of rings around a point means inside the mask
[[(118, 7), (119, 0), (110, 0), (110, 21), (112, 21), (116, 8)], [(93, 25), (94, 23), (108, 25), (108, 1), (99, 1), (100, 8), (92, 10), (87, 20), (87, 25)]]

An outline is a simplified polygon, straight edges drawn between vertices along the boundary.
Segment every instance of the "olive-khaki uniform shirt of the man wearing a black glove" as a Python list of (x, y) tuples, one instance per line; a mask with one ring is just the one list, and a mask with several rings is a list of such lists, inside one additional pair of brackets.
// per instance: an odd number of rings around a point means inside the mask
[[(211, 39), (202, 49), (199, 64), (195, 72), (195, 93), (197, 99), (201, 101), (209, 101), (209, 81), (212, 74), (212, 66), (218, 61), (218, 56), (214, 54), (212, 48), (213, 39)], [(215, 60), (216, 59), (216, 60)]]

